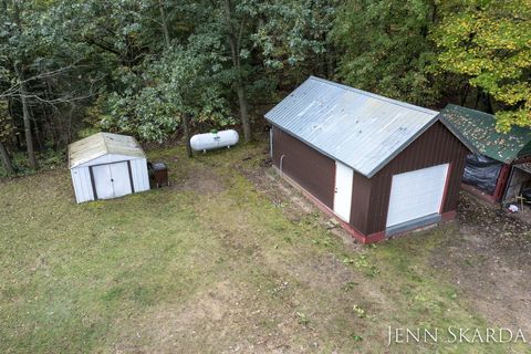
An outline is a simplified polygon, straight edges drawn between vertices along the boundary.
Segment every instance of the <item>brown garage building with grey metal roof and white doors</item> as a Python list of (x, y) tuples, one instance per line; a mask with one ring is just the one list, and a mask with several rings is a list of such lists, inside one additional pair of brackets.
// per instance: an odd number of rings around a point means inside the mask
[(266, 118), (273, 165), (360, 241), (455, 218), (468, 148), (438, 112), (311, 76)]

